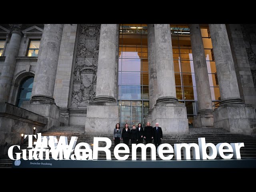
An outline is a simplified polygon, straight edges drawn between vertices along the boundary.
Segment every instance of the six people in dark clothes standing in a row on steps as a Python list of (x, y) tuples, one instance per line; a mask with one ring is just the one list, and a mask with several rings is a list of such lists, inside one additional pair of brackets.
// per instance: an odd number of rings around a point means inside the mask
[(124, 144), (128, 146), (129, 140), (131, 140), (131, 144), (139, 144), (143, 143), (143, 138), (146, 141), (146, 144), (151, 143), (154, 139), (154, 144), (157, 148), (161, 144), (163, 138), (162, 128), (159, 127), (159, 123), (156, 123), (154, 128), (150, 126), (150, 122), (147, 122), (147, 126), (144, 128), (141, 126), (141, 123), (139, 123), (137, 128), (133, 125), (132, 129), (130, 129), (126, 123), (122, 131), (120, 124), (116, 124), (116, 128), (114, 129), (115, 146), (120, 143), (120, 139), (122, 139)]

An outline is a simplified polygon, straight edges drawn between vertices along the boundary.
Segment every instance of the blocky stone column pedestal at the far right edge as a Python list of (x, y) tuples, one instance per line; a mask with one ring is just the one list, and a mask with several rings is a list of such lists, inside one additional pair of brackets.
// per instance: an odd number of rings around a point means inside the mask
[(222, 104), (213, 112), (214, 128), (224, 128), (231, 133), (256, 133), (256, 113), (252, 104)]

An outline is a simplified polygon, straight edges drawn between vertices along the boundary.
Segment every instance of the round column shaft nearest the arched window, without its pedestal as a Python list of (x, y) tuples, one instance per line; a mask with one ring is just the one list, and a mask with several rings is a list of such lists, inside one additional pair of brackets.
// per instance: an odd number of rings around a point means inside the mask
[(34, 78), (31, 100), (54, 102), (54, 84), (58, 67), (63, 24), (45, 24)]

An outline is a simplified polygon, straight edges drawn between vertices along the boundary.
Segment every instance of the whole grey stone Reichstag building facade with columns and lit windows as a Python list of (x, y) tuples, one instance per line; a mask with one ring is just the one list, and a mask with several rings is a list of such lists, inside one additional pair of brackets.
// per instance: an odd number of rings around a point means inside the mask
[(254, 24), (0, 24), (2, 141), (118, 122), (256, 133), (255, 88)]

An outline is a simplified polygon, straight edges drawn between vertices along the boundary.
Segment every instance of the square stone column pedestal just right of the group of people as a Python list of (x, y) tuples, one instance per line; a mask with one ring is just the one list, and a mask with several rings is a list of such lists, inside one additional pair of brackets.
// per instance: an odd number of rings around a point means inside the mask
[(152, 110), (152, 123), (162, 128), (163, 134), (188, 134), (188, 117), (183, 103), (157, 103)]

